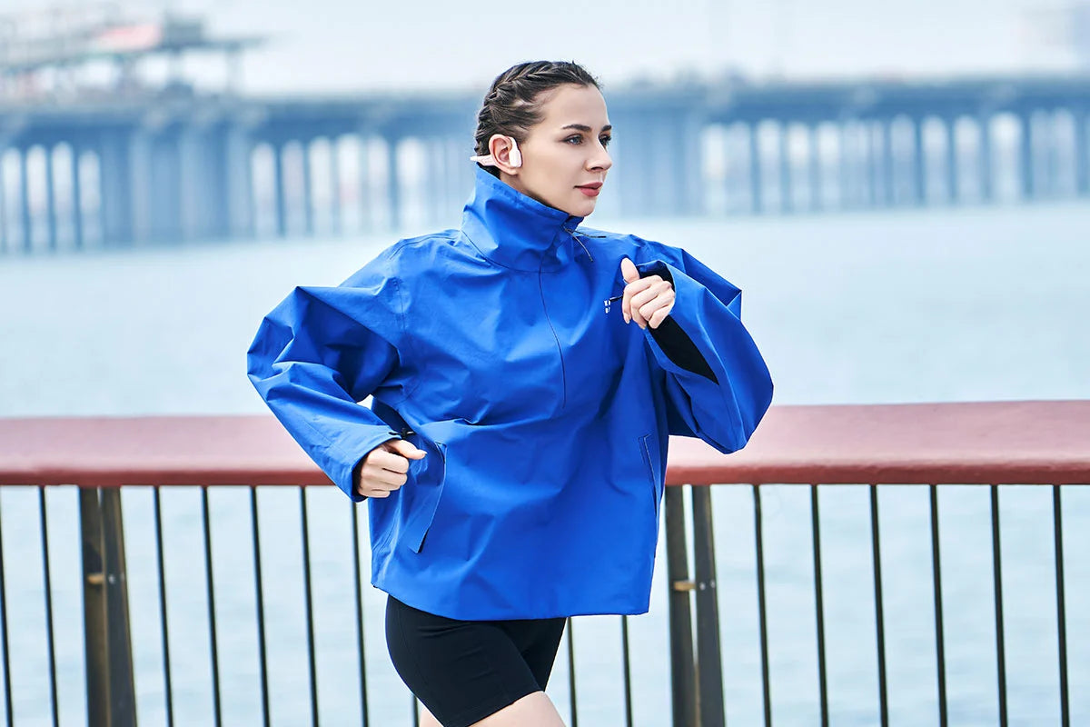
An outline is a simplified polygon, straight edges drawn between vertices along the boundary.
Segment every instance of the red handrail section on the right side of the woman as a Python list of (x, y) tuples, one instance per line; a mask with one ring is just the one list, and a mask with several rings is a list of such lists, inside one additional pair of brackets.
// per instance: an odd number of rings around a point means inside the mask
[(670, 440), (671, 484), (1090, 484), (1090, 400), (774, 407), (724, 456)]

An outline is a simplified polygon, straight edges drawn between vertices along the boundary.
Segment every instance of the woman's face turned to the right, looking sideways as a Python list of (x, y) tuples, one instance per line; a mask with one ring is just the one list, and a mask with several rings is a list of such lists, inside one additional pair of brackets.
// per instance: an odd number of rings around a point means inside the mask
[(519, 144), (522, 166), (509, 173), (501, 169), (500, 179), (542, 204), (586, 217), (613, 166), (606, 152), (611, 129), (594, 86), (565, 84), (545, 92), (542, 121)]

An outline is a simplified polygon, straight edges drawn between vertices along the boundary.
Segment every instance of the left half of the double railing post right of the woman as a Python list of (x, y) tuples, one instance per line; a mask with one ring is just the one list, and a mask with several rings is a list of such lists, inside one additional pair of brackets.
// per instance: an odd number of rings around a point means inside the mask
[(670, 691), (674, 727), (697, 727), (697, 665), (689, 613), (689, 548), (685, 531), (681, 487), (666, 488), (666, 579), (669, 582)]

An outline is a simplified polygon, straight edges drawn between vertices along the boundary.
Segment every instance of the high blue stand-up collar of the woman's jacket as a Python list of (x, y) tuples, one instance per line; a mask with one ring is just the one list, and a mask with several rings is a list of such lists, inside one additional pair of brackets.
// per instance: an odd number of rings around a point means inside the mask
[(572, 258), (582, 217), (549, 207), (476, 166), (462, 232), (488, 260), (516, 270), (549, 270)]

